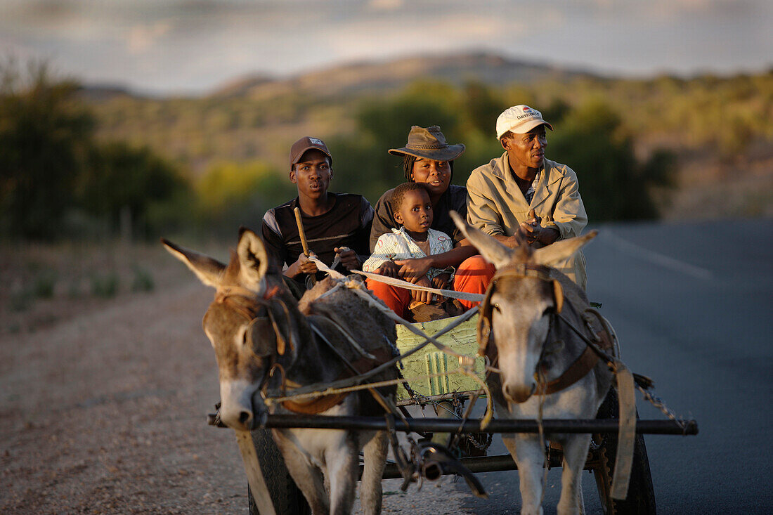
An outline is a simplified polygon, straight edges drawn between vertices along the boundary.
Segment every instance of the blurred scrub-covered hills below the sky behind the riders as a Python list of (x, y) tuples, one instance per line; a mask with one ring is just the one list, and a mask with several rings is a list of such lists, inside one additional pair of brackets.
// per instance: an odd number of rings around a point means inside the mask
[(386, 149), (404, 143), (410, 124), (439, 123), (448, 138), (468, 146), (458, 163), (459, 183), (498, 152), (490, 132), (504, 107), (532, 104), (560, 120), (574, 107), (601, 102), (621, 118), (621, 137), (632, 138), (642, 159), (662, 149), (676, 156), (677, 188), (661, 196), (660, 206), (662, 217), (676, 219), (773, 216), (771, 91), (771, 71), (611, 79), (461, 53), (349, 63), (288, 78), (240, 77), (203, 97), (147, 98), (85, 87), (83, 100), (97, 115), (101, 137), (149, 146), (194, 176), (216, 163), (260, 161), (284, 181), (288, 146), (300, 135), (325, 138), (338, 145), (333, 152), (352, 160), (363, 157), (345, 142), (373, 138), (363, 134), (363, 124), (400, 121), (369, 147)]

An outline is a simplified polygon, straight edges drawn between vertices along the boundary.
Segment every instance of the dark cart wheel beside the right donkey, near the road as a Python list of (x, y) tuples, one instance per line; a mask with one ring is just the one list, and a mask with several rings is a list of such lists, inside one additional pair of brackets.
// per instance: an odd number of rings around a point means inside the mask
[[(601, 408), (598, 408), (596, 418), (618, 418), (618, 413), (618, 394), (612, 387)], [(638, 413), (636, 418), (638, 419)], [(610, 496), (618, 435), (616, 433), (597, 434), (593, 435), (593, 439), (599, 446), (597, 452), (600, 463), (599, 468), (594, 469), (593, 475), (605, 515), (654, 515), (656, 513), (655, 490), (652, 488), (652, 475), (649, 470), (644, 436), (636, 435), (634, 441), (631, 481), (628, 483), (628, 496), (625, 500), (612, 499)]]

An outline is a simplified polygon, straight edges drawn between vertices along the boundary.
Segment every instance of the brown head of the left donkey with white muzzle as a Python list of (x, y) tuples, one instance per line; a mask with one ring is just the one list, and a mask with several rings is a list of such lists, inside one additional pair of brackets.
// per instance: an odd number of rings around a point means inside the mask
[(295, 362), (298, 343), (308, 332), (305, 319), (281, 275), (269, 267), (263, 243), (253, 231), (240, 230), (237, 251), (227, 266), (168, 240), (162, 243), (216, 290), (203, 328), (219, 368), (220, 419), (232, 428), (249, 429), (254, 412), (266, 410), (258, 392), (271, 367)]

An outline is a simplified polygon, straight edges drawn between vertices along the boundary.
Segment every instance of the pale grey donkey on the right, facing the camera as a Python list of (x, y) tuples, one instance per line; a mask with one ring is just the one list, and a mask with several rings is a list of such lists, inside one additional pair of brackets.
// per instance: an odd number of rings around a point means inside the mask
[[(501, 370), (489, 376), (498, 416), (595, 418), (610, 387), (611, 372), (567, 327), (567, 321), (585, 326), (584, 292), (550, 268), (574, 254), (595, 232), (540, 249), (525, 241), (511, 249), (458, 216), (455, 222), (497, 270), (481, 305), (478, 342), (480, 353)], [(584, 513), (580, 475), (591, 435), (549, 434), (547, 438), (564, 448), (558, 513)], [(545, 458), (540, 436), (503, 434), (502, 439), (518, 466), (522, 515), (543, 513)]]

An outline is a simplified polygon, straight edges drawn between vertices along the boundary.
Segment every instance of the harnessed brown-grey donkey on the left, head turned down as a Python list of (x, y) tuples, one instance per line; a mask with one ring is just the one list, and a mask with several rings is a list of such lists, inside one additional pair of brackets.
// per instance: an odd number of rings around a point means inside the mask
[[(397, 338), (394, 322), (329, 278), (296, 303), (279, 271), (269, 266), (261, 239), (251, 230), (241, 231), (237, 252), (227, 266), (169, 241), (163, 243), (205, 285), (216, 288), (203, 326), (220, 370), (220, 418), (231, 428), (253, 427), (254, 419), (267, 411), (261, 396), (267, 390), (327, 384), (355, 375), (352, 367), (363, 372), (392, 356)], [(395, 377), (397, 369), (392, 367), (375, 380)], [(394, 387), (382, 390), (387, 398), (393, 396)], [(271, 411), (383, 414), (374, 397), (367, 391), (328, 395), (285, 401)], [(384, 431), (301, 428), (273, 429), (272, 435), (313, 513), (351, 512), (359, 451), (364, 447), (363, 512), (380, 513), (387, 448)]]

